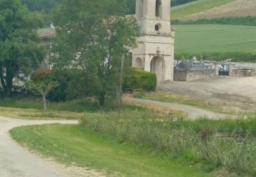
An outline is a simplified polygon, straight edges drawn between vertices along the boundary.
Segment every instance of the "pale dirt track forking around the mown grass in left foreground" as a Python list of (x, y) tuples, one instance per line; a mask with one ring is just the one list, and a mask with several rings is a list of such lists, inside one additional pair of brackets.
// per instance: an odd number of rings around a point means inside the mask
[(0, 116), (0, 176), (102, 176), (94, 170), (65, 167), (53, 161), (41, 159), (19, 146), (8, 133), (14, 127), (44, 124), (77, 124), (76, 120), (19, 120)]

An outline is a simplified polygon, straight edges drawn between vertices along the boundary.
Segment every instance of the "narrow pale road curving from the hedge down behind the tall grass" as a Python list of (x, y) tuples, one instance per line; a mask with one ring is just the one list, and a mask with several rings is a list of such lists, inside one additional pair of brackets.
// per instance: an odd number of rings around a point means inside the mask
[(152, 101), (152, 100), (147, 100), (147, 99), (137, 99), (137, 98), (125, 98), (129, 102), (134, 102), (134, 103), (146, 103), (149, 105), (154, 105), (154, 106), (161, 106), (163, 108), (170, 108), (173, 110), (181, 110), (183, 112), (186, 112), (188, 114), (188, 117), (191, 119), (199, 118), (202, 116), (207, 116), (208, 118), (211, 119), (217, 119), (217, 118), (227, 118), (228, 115), (226, 114), (219, 114), (216, 112), (210, 112), (207, 110), (201, 110), (199, 108), (195, 108), (193, 106), (187, 106), (184, 104), (179, 104), (179, 103), (164, 103), (160, 101)]

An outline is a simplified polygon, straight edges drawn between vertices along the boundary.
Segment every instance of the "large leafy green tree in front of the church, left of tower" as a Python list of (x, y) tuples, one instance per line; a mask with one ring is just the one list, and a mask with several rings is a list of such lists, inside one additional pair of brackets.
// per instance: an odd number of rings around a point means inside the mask
[(122, 54), (137, 46), (139, 27), (126, 17), (126, 4), (119, 0), (64, 1), (55, 12), (57, 37), (52, 63), (57, 69), (76, 67), (96, 82), (96, 98), (104, 107), (115, 97)]

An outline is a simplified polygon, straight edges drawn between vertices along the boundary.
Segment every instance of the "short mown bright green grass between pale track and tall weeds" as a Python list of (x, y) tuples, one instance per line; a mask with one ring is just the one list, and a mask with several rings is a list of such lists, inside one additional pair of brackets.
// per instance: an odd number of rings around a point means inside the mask
[[(54, 132), (54, 133), (53, 133)], [(150, 149), (119, 144), (79, 125), (19, 127), (12, 137), (31, 150), (71, 165), (92, 167), (118, 176), (210, 176), (153, 155)], [(120, 175), (121, 174), (121, 175)]]

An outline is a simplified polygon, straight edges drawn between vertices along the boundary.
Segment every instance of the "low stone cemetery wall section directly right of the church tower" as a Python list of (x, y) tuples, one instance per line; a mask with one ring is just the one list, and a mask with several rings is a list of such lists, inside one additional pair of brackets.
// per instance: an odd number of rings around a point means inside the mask
[(174, 81), (193, 81), (218, 76), (215, 69), (174, 69)]

